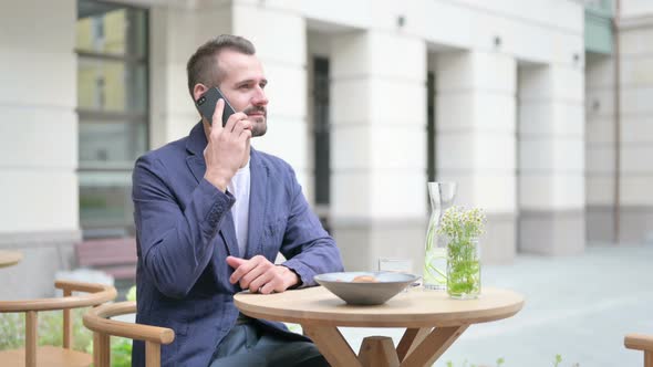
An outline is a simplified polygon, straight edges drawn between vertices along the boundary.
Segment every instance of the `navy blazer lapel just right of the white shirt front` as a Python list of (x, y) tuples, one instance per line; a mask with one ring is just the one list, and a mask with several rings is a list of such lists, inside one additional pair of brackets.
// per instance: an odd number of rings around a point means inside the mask
[(262, 253), (260, 249), (263, 234), (263, 221), (266, 209), (268, 208), (268, 167), (262, 161), (259, 153), (253, 148), (250, 150), (250, 188), (249, 188), (249, 223), (248, 223), (248, 243), (246, 248), (247, 259), (251, 259), (257, 253)]

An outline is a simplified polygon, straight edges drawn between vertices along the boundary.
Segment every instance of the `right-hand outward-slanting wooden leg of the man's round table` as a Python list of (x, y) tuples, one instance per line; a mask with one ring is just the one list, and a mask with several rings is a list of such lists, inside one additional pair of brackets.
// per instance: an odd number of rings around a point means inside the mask
[(469, 325), (436, 327), (417, 347), (402, 360), (402, 367), (431, 366), (456, 342)]

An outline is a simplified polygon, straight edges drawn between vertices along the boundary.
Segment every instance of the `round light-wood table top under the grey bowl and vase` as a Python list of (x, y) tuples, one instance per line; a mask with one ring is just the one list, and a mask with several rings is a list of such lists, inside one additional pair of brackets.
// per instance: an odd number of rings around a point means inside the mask
[(515, 315), (524, 297), (512, 291), (483, 289), (476, 300), (454, 300), (446, 292), (414, 287), (382, 305), (348, 305), (322, 286), (276, 294), (234, 296), (243, 314), (280, 322), (363, 327), (435, 327), (485, 323)]

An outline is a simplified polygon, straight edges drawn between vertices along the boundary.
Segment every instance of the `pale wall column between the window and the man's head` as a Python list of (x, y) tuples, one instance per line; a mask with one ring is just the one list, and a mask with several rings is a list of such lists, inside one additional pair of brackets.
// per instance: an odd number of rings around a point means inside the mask
[(200, 120), (188, 93), (186, 63), (197, 48), (231, 33), (231, 4), (168, 1), (149, 11), (149, 148), (188, 136)]

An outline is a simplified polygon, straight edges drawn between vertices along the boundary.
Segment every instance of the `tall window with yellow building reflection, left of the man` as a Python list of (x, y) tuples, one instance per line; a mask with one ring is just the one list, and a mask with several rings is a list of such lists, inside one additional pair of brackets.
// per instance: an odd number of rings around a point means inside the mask
[(134, 160), (148, 146), (147, 10), (77, 1), (80, 224), (85, 238), (134, 231)]

